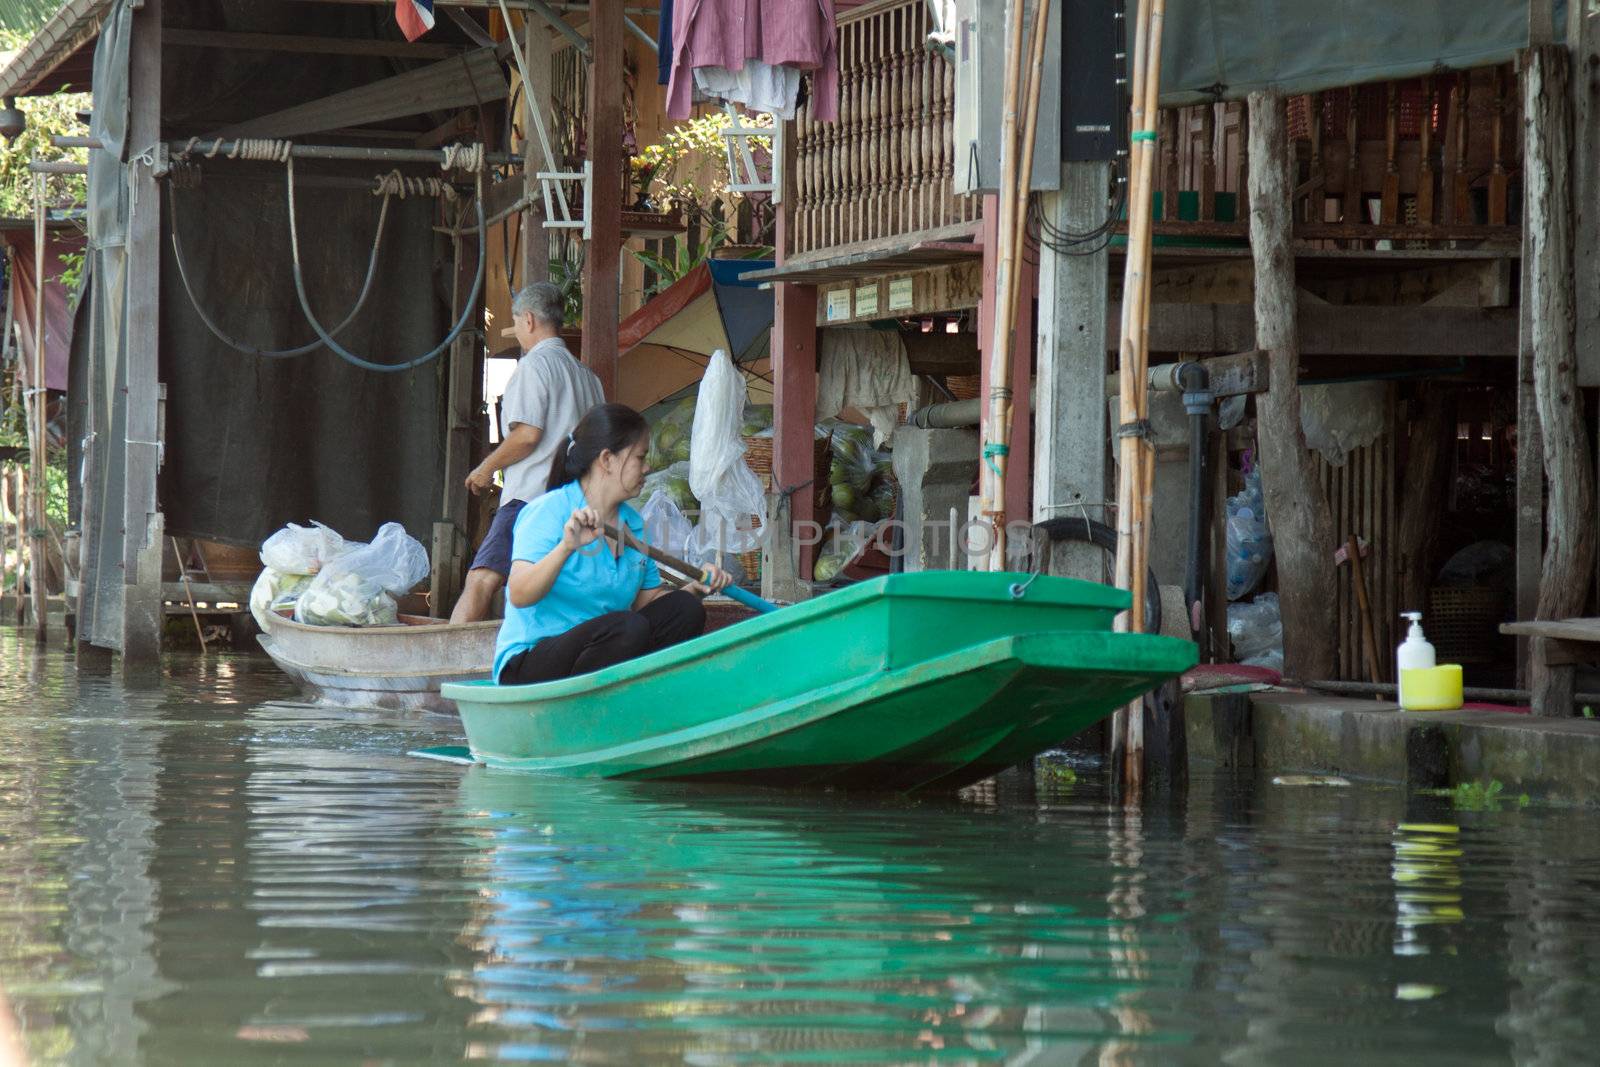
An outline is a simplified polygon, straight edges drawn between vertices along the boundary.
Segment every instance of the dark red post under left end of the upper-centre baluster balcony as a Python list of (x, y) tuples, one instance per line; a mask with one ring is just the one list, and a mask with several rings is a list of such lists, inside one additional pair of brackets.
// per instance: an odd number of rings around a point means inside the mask
[[(794, 134), (792, 125), (786, 133)], [(776, 235), (773, 238), (778, 264), (787, 258), (795, 242), (795, 211), (800, 206), (795, 195), (797, 136), (784, 138), (782, 197), (778, 203)], [(816, 286), (779, 282), (773, 285), (773, 491), (787, 493), (787, 502), (776, 509), (781, 523), (773, 530), (771, 555), (781, 561), (776, 574), (798, 579), (784, 589), (771, 581), (762, 587), (762, 595), (778, 600), (794, 600), (810, 581), (814, 547), (802, 547), (795, 553), (797, 531), (808, 531), (803, 523), (816, 522), (814, 448), (816, 448)], [(795, 555), (790, 555), (795, 553)], [(795, 573), (789, 574), (787, 560), (795, 558)], [(766, 568), (773, 576), (774, 568)]]

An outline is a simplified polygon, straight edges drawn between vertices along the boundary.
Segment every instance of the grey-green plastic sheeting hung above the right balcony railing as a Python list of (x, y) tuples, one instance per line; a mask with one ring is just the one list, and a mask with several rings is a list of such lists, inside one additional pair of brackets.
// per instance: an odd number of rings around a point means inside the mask
[[(1136, 8), (1128, 0), (1130, 30)], [(1558, 38), (1565, 26), (1557, 0)], [(1526, 46), (1528, 0), (1184, 0), (1166, 5), (1162, 104), (1410, 78), (1504, 62)]]

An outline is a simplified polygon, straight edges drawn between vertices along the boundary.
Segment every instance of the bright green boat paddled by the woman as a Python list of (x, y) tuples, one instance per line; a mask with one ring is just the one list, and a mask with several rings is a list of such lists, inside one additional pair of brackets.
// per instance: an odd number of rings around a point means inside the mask
[(1066, 577), (893, 574), (589, 675), (443, 696), (459, 755), (498, 768), (960, 789), (1195, 664), (1189, 641), (1114, 633), (1128, 603)]

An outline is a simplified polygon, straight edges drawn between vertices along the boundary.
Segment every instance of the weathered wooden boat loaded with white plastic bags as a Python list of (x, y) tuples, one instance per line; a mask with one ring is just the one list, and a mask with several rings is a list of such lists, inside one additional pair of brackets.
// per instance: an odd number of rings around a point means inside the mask
[(403, 614), (398, 625), (307, 625), (272, 613), (258, 640), (283, 673), (331, 704), (454, 712), (440, 686), (488, 678), (496, 633), (499, 621)]

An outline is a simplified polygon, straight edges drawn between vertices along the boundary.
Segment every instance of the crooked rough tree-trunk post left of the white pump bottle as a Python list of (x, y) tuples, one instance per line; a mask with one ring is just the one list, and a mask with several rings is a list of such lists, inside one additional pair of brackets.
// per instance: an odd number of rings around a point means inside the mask
[(1272, 522), (1288, 677), (1331, 678), (1333, 512), (1301, 434), (1299, 323), (1291, 245), (1290, 144), (1283, 98), (1250, 94), (1250, 248), (1256, 269), (1256, 347), (1272, 386), (1256, 397), (1261, 482)]

